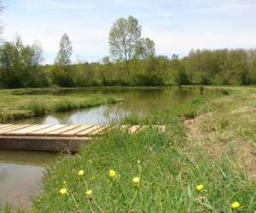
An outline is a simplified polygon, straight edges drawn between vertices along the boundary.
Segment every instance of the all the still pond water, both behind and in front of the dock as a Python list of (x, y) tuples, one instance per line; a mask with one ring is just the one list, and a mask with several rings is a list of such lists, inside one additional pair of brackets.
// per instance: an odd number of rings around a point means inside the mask
[[(147, 115), (157, 109), (175, 108), (189, 101), (198, 91), (190, 89), (84, 89), (55, 95), (114, 95), (124, 101), (114, 105), (60, 112), (42, 118), (16, 120), (14, 124), (108, 124), (135, 112)], [(40, 191), (44, 167), (53, 163), (55, 153), (0, 151), (0, 205), (31, 206), (31, 198)]]

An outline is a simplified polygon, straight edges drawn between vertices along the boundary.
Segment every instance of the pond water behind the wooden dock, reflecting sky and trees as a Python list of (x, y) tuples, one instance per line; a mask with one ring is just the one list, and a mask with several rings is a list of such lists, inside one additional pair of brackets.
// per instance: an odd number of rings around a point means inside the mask
[(195, 96), (195, 91), (184, 89), (128, 89), (128, 90), (75, 90), (61, 95), (114, 95), (124, 99), (115, 105), (92, 107), (71, 112), (52, 113), (42, 118), (17, 120), (15, 124), (108, 124), (135, 112), (147, 115), (155, 110), (176, 107)]

